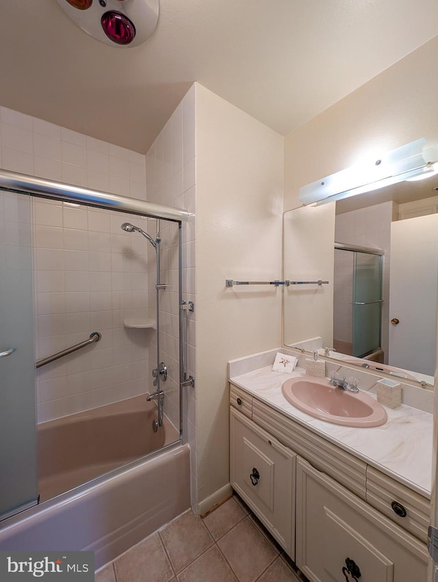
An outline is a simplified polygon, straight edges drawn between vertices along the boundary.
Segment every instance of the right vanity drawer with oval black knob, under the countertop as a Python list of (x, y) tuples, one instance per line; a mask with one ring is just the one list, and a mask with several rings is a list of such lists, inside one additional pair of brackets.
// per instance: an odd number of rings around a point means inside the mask
[[(368, 466), (367, 501), (385, 516), (419, 537), (420, 540), (427, 541), (430, 519), (428, 499)], [(391, 505), (394, 502), (399, 504), (395, 505), (395, 510)], [(402, 514), (406, 512), (406, 515), (399, 516), (396, 511)]]

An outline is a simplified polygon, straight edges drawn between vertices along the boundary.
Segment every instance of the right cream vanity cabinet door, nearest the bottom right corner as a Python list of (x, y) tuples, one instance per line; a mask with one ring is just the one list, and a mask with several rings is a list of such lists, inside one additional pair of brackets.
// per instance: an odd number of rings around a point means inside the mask
[(296, 565), (313, 582), (426, 582), (425, 544), (297, 459)]

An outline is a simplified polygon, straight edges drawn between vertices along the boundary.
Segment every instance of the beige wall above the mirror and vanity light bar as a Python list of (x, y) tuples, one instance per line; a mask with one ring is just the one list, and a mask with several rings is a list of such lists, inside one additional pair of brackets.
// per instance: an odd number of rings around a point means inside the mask
[[(285, 210), (300, 205), (301, 186), (351, 166), (376, 149), (391, 150), (421, 137), (438, 140), (438, 77), (433, 74), (437, 58), (438, 36), (287, 135)], [(326, 207), (334, 215), (335, 204)], [(330, 245), (334, 220), (325, 224), (318, 237)], [(326, 299), (320, 313), (326, 314), (322, 325), (328, 326), (333, 305), (328, 295)], [(315, 321), (309, 314), (310, 327)]]

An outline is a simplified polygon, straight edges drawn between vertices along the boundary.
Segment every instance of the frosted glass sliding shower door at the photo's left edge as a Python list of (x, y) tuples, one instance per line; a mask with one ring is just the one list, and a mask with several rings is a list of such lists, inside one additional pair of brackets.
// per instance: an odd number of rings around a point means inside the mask
[(0, 192), (0, 520), (38, 503), (31, 201)]

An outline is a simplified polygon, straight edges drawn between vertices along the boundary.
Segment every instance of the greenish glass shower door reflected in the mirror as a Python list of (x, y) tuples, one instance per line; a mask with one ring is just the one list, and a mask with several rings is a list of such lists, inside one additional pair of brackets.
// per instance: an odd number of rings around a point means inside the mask
[(382, 266), (380, 255), (354, 255), (352, 355), (362, 357), (381, 347)]

